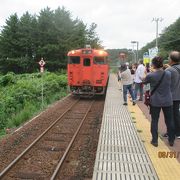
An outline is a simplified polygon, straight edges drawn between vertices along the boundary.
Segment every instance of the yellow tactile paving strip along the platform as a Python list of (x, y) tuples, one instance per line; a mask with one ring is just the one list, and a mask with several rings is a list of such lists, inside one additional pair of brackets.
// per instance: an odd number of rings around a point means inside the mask
[[(132, 106), (131, 104), (132, 103), (130, 102), (128, 103), (128, 109), (131, 113), (132, 121), (135, 124), (142, 141), (144, 142), (159, 179), (180, 180), (180, 163), (176, 160), (176, 158), (174, 158), (174, 155), (177, 154), (170, 152), (169, 148), (160, 138), (158, 140), (158, 147), (154, 147), (150, 144), (150, 122), (146, 119), (145, 115), (137, 105)], [(165, 152), (167, 157), (160, 158), (158, 155), (162, 155), (162, 152)], [(172, 154), (170, 155), (169, 153)]]

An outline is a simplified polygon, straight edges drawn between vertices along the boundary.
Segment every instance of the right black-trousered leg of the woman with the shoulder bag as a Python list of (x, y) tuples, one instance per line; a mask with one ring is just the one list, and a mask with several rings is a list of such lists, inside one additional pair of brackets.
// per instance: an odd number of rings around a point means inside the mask
[(170, 145), (173, 145), (175, 134), (174, 134), (174, 122), (173, 122), (173, 106), (162, 107), (164, 113), (164, 119), (167, 126), (168, 140)]

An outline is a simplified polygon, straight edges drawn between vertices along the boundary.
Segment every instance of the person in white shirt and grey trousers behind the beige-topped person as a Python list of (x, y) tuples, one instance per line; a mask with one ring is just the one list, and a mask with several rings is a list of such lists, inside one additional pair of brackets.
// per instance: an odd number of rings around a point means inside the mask
[(139, 91), (140, 93), (140, 98), (139, 101), (143, 101), (143, 84), (142, 80), (145, 75), (146, 68), (143, 64), (143, 60), (140, 60), (140, 64), (138, 65), (136, 72), (135, 72), (135, 77), (134, 77), (134, 83), (135, 83), (135, 90), (134, 90), (134, 95), (135, 99), (137, 100), (137, 93)]

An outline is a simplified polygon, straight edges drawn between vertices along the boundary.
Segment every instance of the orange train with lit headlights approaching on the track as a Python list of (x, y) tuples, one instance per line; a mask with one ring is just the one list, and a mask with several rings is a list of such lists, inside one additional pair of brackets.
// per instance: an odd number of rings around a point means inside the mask
[(68, 52), (68, 85), (74, 95), (103, 95), (108, 82), (108, 53), (90, 47)]

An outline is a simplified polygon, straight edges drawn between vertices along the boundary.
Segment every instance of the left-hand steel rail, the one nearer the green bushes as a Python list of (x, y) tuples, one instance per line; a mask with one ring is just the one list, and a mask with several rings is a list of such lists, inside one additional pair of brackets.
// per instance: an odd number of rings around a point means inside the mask
[(19, 156), (17, 156), (1, 173), (0, 179), (24, 156), (71, 108), (79, 102), (76, 100), (58, 119), (56, 119), (40, 136), (38, 136)]

